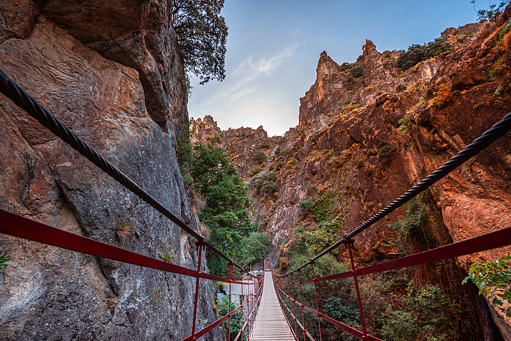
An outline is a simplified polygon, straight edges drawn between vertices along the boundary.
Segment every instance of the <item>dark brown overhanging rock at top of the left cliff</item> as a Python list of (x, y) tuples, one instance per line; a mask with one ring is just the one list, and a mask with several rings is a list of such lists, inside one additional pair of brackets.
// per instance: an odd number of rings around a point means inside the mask
[(170, 6), (150, 0), (51, 0), (39, 11), (105, 58), (138, 71), (151, 118), (163, 130), (167, 121), (179, 130), (188, 121), (188, 95)]

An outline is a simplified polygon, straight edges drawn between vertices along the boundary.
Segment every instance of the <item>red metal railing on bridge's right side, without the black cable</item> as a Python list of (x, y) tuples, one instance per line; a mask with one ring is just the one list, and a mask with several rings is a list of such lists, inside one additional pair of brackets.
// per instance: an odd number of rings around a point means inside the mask
[[(287, 278), (290, 276), (290, 274), (278, 276), (272, 272), (272, 275), (275, 278), (274, 285), (275, 285), (276, 291), (278, 293), (277, 296), (278, 296), (280, 302), (289, 311), (293, 320), (297, 321), (295, 315), (291, 314), (291, 310), (289, 309), (289, 307), (286, 304), (286, 302), (284, 301), (284, 299), (287, 299), (288, 301), (292, 302), (293, 305), (298, 305), (302, 308), (301, 314), (302, 314), (303, 325), (300, 323), (297, 323), (297, 324), (304, 331), (304, 339), (305, 339), (305, 335), (307, 335), (309, 337), (309, 339), (311, 339), (312, 341), (315, 341), (314, 338), (311, 336), (311, 334), (305, 328), (305, 319), (304, 319), (304, 310), (303, 310), (305, 308), (305, 309), (309, 310), (310, 312), (312, 312), (314, 315), (316, 315), (318, 318), (320, 340), (322, 338), (320, 319), (328, 321), (331, 324), (349, 332), (350, 334), (352, 334), (360, 339), (376, 340), (376, 341), (380, 340), (379, 338), (377, 338), (375, 336), (371, 336), (371, 335), (367, 334), (367, 330), (365, 327), (365, 320), (364, 320), (364, 311), (363, 311), (363, 307), (362, 307), (362, 300), (360, 298), (360, 290), (358, 287), (358, 279), (357, 279), (358, 276), (368, 275), (368, 274), (373, 274), (373, 273), (381, 273), (381, 272), (389, 271), (389, 270), (402, 269), (403, 267), (431, 263), (431, 262), (438, 261), (438, 260), (445, 260), (445, 259), (449, 259), (449, 258), (459, 257), (459, 256), (463, 256), (463, 255), (468, 255), (468, 254), (472, 254), (472, 253), (476, 253), (476, 252), (481, 252), (481, 251), (486, 251), (486, 250), (491, 250), (491, 249), (496, 249), (496, 248), (500, 248), (503, 246), (511, 245), (511, 227), (506, 227), (506, 228), (503, 228), (503, 229), (500, 229), (500, 230), (497, 230), (494, 232), (486, 233), (486, 234), (483, 234), (483, 235), (480, 235), (480, 236), (477, 236), (474, 238), (458, 241), (458, 242), (452, 243), (447, 246), (443, 246), (443, 247), (439, 247), (436, 249), (413, 254), (411, 256), (394, 259), (391, 261), (387, 261), (387, 262), (379, 263), (379, 264), (375, 264), (375, 265), (369, 265), (366, 267), (362, 267), (360, 269), (356, 268), (355, 260), (353, 258), (352, 246), (354, 243), (354, 239), (349, 239), (349, 240), (343, 239), (343, 242), (344, 242), (345, 248), (348, 250), (348, 253), (350, 255), (352, 271), (346, 271), (343, 273), (338, 273), (338, 274), (334, 274), (334, 275), (330, 275), (330, 276), (316, 278), (315, 273), (314, 273), (315, 261), (311, 260), (308, 263), (306, 263), (305, 265), (310, 264), (312, 266), (313, 278), (310, 280), (307, 280), (307, 281), (301, 281), (301, 278), (300, 278), (300, 272), (303, 269), (303, 266), (301, 266), (300, 269), (297, 270), (298, 282), (293, 282), (292, 280), (290, 282), (287, 281)], [(355, 290), (356, 290), (356, 294), (357, 294), (357, 303), (358, 303), (358, 308), (359, 308), (359, 313), (360, 313), (360, 321), (362, 324), (362, 330), (356, 330), (350, 326), (347, 326), (339, 321), (332, 319), (331, 317), (329, 317), (325, 314), (320, 313), (319, 307), (317, 305), (316, 305), (316, 309), (306, 306), (305, 304), (303, 304), (303, 301), (301, 299), (301, 285), (302, 284), (314, 283), (314, 286), (316, 286), (317, 282), (331, 281), (331, 280), (335, 280), (335, 279), (348, 278), (348, 277), (353, 277), (353, 279), (355, 281)], [(294, 298), (291, 298), (288, 294), (286, 294), (285, 288), (283, 288), (283, 286), (286, 286), (286, 285), (294, 286), (296, 284), (298, 284), (299, 288), (300, 288), (300, 302), (298, 302), (297, 300), (295, 300)], [(282, 294), (282, 297), (281, 297), (281, 294)], [(315, 290), (315, 298), (316, 298), (316, 304), (317, 304), (318, 296), (317, 296), (316, 290)]]

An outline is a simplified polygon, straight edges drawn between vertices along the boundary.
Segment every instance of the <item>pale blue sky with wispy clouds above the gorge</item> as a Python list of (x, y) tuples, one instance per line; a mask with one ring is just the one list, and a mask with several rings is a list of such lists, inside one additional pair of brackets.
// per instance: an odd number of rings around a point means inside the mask
[(314, 84), (323, 50), (339, 64), (354, 62), (365, 39), (379, 52), (404, 50), (477, 19), (470, 0), (226, 0), (222, 15), (225, 80), (192, 79), (189, 116), (212, 115), (223, 130), (262, 125), (269, 136), (298, 124), (299, 98)]

